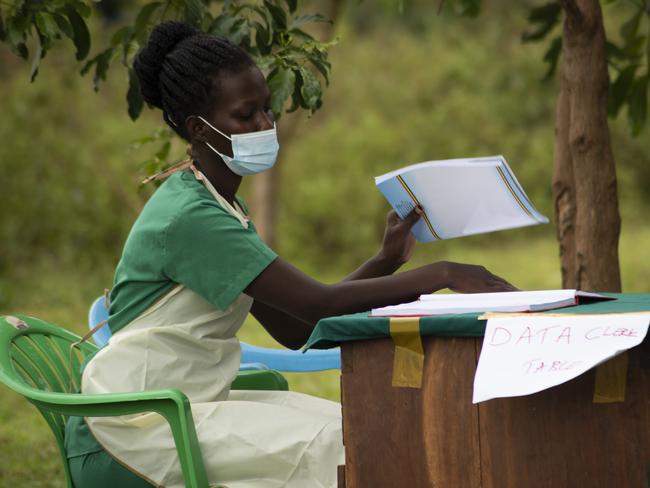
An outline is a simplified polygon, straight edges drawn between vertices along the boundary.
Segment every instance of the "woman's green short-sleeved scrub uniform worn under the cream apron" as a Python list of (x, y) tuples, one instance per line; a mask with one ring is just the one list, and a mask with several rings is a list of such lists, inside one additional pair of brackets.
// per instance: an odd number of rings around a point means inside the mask
[[(225, 310), (276, 257), (253, 223), (246, 228), (193, 173), (174, 173), (146, 203), (124, 245), (111, 291), (111, 331), (177, 284)], [(65, 448), (80, 486), (150, 486), (110, 457), (81, 417), (68, 419)]]

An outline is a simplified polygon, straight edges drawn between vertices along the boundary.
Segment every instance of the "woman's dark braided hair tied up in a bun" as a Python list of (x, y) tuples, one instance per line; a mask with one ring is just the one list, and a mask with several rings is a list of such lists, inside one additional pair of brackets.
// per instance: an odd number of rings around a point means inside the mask
[(252, 66), (252, 58), (229, 40), (204, 34), (183, 22), (157, 25), (133, 67), (144, 101), (189, 141), (185, 119), (207, 115), (215, 100), (214, 78)]

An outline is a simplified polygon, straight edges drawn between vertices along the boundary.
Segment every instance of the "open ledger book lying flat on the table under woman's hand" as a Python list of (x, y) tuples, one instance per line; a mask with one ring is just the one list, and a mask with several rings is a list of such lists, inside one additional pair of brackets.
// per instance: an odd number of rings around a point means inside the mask
[(509, 291), (421, 295), (415, 302), (374, 308), (371, 317), (414, 317), (481, 312), (541, 312), (579, 303), (615, 300), (578, 290)]

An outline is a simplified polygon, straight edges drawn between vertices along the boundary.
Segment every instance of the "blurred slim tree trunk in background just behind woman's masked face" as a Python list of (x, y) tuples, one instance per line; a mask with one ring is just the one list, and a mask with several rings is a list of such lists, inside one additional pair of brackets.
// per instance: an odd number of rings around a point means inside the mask
[[(319, 24), (320, 31), (316, 37), (329, 40), (333, 34), (333, 25), (341, 14), (343, 0), (327, 0), (319, 9), (331, 23)], [(286, 147), (291, 141), (298, 124), (304, 115), (300, 112), (285, 114), (282, 120), (282, 146)], [(280, 157), (282, 151), (280, 151)], [(277, 244), (277, 216), (280, 197), (281, 161), (270, 171), (265, 171), (253, 179), (252, 212), (255, 226), (264, 241), (271, 247)]]

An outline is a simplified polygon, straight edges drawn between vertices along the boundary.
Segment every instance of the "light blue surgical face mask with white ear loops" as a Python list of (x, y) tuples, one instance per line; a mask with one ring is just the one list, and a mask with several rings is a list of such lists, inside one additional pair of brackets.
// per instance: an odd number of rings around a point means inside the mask
[(275, 164), (280, 150), (275, 122), (273, 123), (273, 129), (247, 132), (246, 134), (233, 134), (232, 137), (229, 137), (200, 115), (199, 119), (231, 141), (232, 157), (221, 154), (208, 142), (205, 144), (221, 156), (221, 159), (233, 173), (240, 176), (253, 175), (271, 169)]

